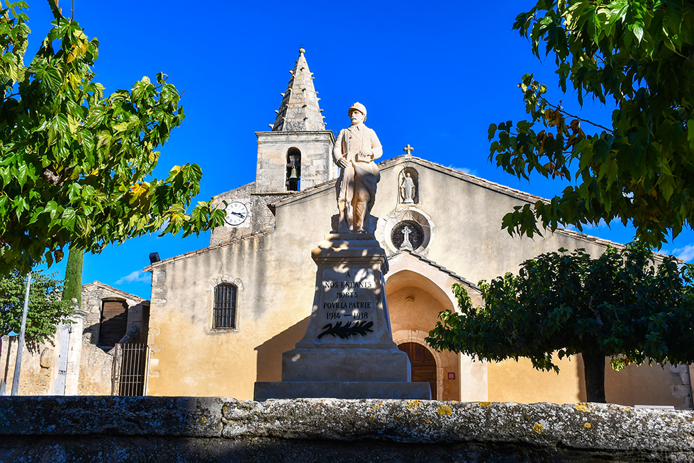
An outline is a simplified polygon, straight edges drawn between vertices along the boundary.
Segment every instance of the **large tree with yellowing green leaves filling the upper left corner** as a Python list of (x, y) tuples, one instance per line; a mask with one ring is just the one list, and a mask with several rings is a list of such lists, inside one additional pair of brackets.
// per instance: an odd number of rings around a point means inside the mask
[(26, 3), (0, 10), (0, 275), (51, 265), (68, 244), (98, 253), (162, 229), (221, 225), (210, 201), (187, 213), (197, 165), (150, 178), (156, 149), (183, 121), (176, 87), (160, 73), (104, 96), (92, 71), (99, 42), (49, 3), (56, 20), (29, 66)]

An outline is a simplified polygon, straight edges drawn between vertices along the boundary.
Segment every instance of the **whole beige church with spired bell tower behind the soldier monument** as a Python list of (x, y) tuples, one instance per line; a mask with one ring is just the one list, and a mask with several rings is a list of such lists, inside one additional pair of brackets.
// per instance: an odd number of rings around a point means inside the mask
[[(256, 381), (280, 380), (282, 353), (305, 333), (316, 291), (311, 250), (331, 230), (338, 169), (303, 49), (276, 112), (271, 131), (255, 134), (255, 182), (214, 197), (227, 220), (210, 246), (147, 267), (146, 394), (251, 399)], [(570, 230), (511, 237), (500, 230), (504, 214), (540, 198), (405, 151), (378, 165), (371, 214), (389, 260), (393, 340), (408, 353), (413, 380), (430, 382), (439, 400), (584, 401), (580, 355), (560, 361), (557, 375), (525, 360), (435, 352), (424, 338), (441, 310), (457, 309), (454, 283), (481, 303), (472, 282), (515, 272), (523, 260), (560, 247), (599, 255), (619, 245)], [(691, 408), (689, 378), (688, 367), (609, 370), (607, 401)]]

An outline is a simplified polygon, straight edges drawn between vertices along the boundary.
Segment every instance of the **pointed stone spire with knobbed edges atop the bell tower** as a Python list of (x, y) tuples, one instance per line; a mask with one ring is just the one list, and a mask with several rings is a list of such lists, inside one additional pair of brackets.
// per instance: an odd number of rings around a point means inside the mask
[(325, 123), (318, 106), (316, 89), (313, 86), (312, 72), (308, 69), (305, 50), (299, 49), (299, 58), (289, 78), (287, 91), (282, 94), (282, 104), (277, 113), (273, 132), (312, 132), (324, 131)]

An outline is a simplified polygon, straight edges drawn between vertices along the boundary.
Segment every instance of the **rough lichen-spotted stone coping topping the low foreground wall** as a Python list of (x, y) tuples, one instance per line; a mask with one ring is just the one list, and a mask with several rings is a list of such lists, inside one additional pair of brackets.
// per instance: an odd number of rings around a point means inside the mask
[(0, 435), (520, 444), (694, 455), (694, 412), (597, 403), (17, 396), (0, 397)]

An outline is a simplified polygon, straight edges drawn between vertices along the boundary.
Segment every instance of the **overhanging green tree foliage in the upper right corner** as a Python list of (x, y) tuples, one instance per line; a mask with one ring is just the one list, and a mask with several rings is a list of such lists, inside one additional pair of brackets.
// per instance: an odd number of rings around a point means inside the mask
[(529, 118), (489, 127), (490, 160), (518, 178), (536, 171), (573, 185), (549, 203), (518, 206), (503, 227), (532, 237), (538, 223), (582, 229), (618, 219), (652, 246), (692, 228), (694, 3), (541, 0), (514, 29), (535, 56), (554, 56), (561, 90), (570, 81), (581, 105), (588, 96), (616, 110), (607, 127), (575, 117), (523, 76)]

